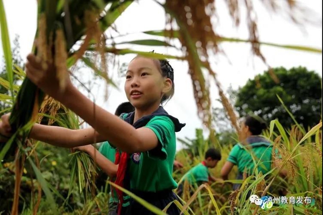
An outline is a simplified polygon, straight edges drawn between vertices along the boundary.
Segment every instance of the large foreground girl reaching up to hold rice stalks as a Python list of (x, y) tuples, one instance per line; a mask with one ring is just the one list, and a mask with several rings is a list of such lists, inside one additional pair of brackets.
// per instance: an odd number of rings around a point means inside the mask
[[(122, 151), (116, 183), (130, 189), (139, 197), (163, 209), (177, 199), (172, 178), (176, 152), (175, 132), (185, 124), (168, 115), (160, 106), (174, 94), (174, 71), (166, 60), (137, 56), (126, 73), (125, 92), (135, 112), (121, 119), (106, 112), (77, 90), (66, 77), (66, 88), (61, 90), (54, 66), (42, 67), (34, 55), (27, 57), (26, 74), (46, 94), (63, 103), (84, 119), (92, 128), (69, 130), (35, 124), (30, 138), (61, 147), (76, 147), (109, 141)], [(94, 114), (95, 113), (95, 114)], [(0, 133), (10, 135), (9, 115), (2, 117)], [(119, 192), (119, 203), (123, 203)], [(119, 214), (151, 214), (139, 203), (130, 200), (130, 206)], [(167, 210), (179, 214), (175, 204)]]

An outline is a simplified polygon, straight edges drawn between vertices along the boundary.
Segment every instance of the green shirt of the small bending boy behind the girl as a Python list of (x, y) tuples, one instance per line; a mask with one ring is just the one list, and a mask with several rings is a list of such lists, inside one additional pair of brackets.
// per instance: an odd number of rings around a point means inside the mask
[(191, 185), (195, 183), (200, 185), (208, 182), (209, 175), (208, 168), (203, 164), (198, 164), (184, 175), (184, 180), (187, 180)]

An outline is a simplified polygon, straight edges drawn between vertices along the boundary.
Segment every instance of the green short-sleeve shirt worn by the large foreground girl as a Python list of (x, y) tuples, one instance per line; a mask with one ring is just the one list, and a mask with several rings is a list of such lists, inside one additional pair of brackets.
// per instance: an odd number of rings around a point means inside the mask
[(176, 153), (175, 125), (169, 117), (155, 116), (145, 127), (155, 133), (158, 145), (150, 151), (131, 154), (128, 163), (130, 187), (146, 192), (175, 189), (177, 183), (172, 177)]

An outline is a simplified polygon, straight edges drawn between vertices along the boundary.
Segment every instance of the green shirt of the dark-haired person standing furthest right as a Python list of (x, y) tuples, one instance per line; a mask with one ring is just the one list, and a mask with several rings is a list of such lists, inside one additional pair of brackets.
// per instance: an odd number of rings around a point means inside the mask
[(252, 155), (255, 157), (256, 164), (258, 163), (258, 172), (262, 172), (262, 174), (266, 174), (271, 170), (272, 166), (272, 151), (273, 145), (268, 143), (251, 143), (249, 144), (252, 148), (245, 149), (242, 144), (237, 143), (229, 153), (228, 161), (234, 165), (237, 165), (240, 173), (245, 172), (252, 173), (254, 169), (254, 162), (252, 159)]

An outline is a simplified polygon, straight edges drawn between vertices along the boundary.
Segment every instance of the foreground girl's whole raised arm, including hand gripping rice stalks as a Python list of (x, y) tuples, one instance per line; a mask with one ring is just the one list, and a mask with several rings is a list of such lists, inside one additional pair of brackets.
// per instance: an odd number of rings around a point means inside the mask
[[(55, 66), (47, 65), (44, 68), (42, 62), (38, 61), (34, 55), (28, 55), (27, 59), (26, 74), (33, 83), (80, 116), (105, 140), (120, 148), (120, 150), (128, 153), (142, 152), (153, 149), (158, 145), (158, 139), (152, 130), (144, 127), (136, 130), (117, 116), (95, 105), (73, 86), (69, 76), (65, 77), (65, 89), (61, 90)], [(43, 138), (46, 138), (46, 136), (43, 136)], [(62, 146), (57, 142), (53, 142), (53, 144)], [(83, 143), (78, 143), (75, 146), (80, 145), (83, 145)]]

